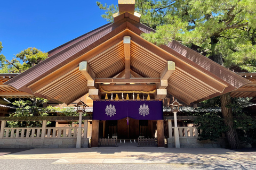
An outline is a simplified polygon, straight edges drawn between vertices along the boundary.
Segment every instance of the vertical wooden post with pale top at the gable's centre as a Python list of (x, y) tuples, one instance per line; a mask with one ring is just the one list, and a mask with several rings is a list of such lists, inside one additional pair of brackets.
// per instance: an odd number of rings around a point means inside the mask
[[(131, 37), (124, 36), (125, 79), (131, 78)], [(127, 83), (126, 85), (129, 85)]]

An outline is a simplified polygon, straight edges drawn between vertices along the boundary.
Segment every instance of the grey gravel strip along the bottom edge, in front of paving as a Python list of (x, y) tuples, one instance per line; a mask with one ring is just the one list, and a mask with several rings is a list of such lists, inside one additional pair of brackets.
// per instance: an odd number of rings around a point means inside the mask
[(234, 161), (212, 162), (210, 165), (182, 165), (182, 164), (52, 164), (57, 159), (2, 159), (0, 160), (0, 169), (256, 169), (256, 162)]

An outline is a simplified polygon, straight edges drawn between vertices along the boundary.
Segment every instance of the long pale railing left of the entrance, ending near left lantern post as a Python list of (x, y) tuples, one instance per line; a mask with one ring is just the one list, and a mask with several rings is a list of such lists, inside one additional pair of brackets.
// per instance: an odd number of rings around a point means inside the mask
[(76, 138), (77, 130), (76, 127), (45, 128), (44, 131), (43, 128), (4, 128), (3, 138)]

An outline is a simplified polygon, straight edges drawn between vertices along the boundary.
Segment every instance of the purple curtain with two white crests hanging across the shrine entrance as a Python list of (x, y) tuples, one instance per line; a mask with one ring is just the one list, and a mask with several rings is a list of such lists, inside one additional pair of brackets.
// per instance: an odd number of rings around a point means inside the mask
[(163, 101), (93, 101), (93, 120), (120, 120), (125, 117), (137, 120), (163, 120)]

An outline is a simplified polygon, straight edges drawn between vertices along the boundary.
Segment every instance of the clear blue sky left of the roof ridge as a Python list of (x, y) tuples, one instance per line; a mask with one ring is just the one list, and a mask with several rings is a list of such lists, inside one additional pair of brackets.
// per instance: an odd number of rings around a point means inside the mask
[[(117, 4), (118, 0), (101, 3)], [(0, 41), (3, 55), (11, 60), (28, 47), (49, 52), (67, 41), (103, 24), (105, 11), (96, 1), (2, 1), (0, 4)]]

